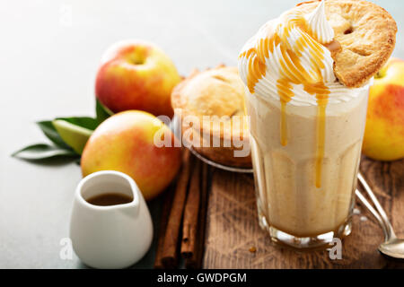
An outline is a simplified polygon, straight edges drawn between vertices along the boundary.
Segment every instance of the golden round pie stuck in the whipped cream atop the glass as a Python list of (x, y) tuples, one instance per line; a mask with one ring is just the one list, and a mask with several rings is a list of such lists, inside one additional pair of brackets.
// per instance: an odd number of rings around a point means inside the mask
[[(303, 2), (294, 9), (311, 13), (319, 1)], [(347, 87), (361, 87), (391, 57), (397, 24), (377, 4), (363, 0), (327, 0), (325, 9), (342, 50), (332, 55), (334, 73)]]

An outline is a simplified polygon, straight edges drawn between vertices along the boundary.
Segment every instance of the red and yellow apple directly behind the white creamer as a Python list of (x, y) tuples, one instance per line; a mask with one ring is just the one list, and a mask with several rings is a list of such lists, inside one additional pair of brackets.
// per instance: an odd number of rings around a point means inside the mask
[[(155, 144), (155, 138), (162, 135), (171, 137), (171, 144)], [(100, 170), (124, 172), (135, 180), (145, 200), (150, 200), (171, 183), (180, 169), (181, 151), (174, 147), (174, 139), (170, 128), (147, 112), (115, 114), (102, 122), (85, 144), (83, 176)]]

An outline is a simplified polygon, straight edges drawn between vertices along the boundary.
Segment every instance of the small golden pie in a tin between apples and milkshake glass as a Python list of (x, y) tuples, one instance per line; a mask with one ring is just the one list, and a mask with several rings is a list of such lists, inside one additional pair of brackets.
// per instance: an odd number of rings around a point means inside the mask
[[(224, 65), (204, 72), (196, 70), (172, 91), (171, 105), (179, 117), (183, 138), (189, 138), (191, 129), (192, 143), (198, 143), (192, 148), (207, 159), (231, 167), (252, 167), (244, 92), (237, 68)], [(189, 125), (192, 117), (198, 121)], [(234, 156), (242, 149), (249, 152), (248, 156)]]

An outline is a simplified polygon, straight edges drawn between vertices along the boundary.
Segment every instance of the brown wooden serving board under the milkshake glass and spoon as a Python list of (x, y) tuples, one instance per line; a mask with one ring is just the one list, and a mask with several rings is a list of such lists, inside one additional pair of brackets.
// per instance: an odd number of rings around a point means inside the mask
[[(404, 160), (392, 163), (363, 158), (361, 171), (398, 236), (404, 237)], [(327, 250), (296, 252), (275, 247), (259, 228), (252, 175), (212, 170), (207, 206), (204, 268), (404, 268), (383, 257), (377, 247), (382, 229), (364, 206), (354, 215), (350, 236), (343, 240), (342, 259)], [(250, 248), (255, 248), (251, 252)]]

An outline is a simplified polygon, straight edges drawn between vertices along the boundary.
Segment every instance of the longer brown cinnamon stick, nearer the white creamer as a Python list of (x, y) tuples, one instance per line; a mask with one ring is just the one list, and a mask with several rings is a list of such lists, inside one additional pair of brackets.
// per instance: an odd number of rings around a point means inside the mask
[(189, 150), (183, 153), (182, 167), (180, 177), (175, 187), (174, 197), (172, 199), (171, 212), (167, 222), (167, 228), (162, 244), (162, 265), (165, 268), (174, 268), (178, 263), (178, 243), (180, 237), (180, 225), (182, 213), (187, 197), (189, 184), (189, 175), (191, 169), (191, 157)]

